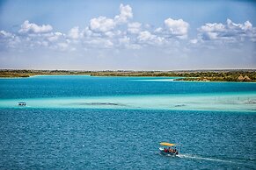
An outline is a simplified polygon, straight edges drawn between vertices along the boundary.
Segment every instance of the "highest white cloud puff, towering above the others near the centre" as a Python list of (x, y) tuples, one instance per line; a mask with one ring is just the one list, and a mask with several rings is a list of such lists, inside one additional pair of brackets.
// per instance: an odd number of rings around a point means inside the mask
[(127, 23), (128, 19), (133, 18), (133, 11), (129, 5), (120, 5), (120, 15), (114, 17), (116, 24)]

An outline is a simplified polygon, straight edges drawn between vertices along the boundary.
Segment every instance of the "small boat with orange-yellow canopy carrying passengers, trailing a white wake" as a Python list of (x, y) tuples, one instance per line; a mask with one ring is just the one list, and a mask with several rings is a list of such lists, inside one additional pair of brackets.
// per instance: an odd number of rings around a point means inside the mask
[(159, 147), (159, 150), (161, 154), (166, 155), (166, 156), (176, 156), (179, 154), (179, 145), (178, 144), (171, 144), (168, 142), (161, 142), (161, 146)]

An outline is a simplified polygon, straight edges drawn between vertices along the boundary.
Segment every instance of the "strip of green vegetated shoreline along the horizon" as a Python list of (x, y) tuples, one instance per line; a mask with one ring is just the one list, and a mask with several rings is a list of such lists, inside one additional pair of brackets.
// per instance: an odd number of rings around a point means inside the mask
[(176, 81), (256, 81), (256, 70), (209, 71), (70, 71), (70, 70), (0, 70), (0, 77), (29, 77), (33, 75), (91, 75), (91, 76), (165, 76), (180, 77)]

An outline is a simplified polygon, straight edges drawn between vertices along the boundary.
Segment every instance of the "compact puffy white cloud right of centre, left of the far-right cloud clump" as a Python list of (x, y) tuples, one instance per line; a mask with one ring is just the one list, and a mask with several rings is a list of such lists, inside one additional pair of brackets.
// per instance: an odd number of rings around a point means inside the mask
[(165, 27), (173, 35), (184, 36), (187, 35), (189, 24), (183, 19), (167, 18), (165, 19)]

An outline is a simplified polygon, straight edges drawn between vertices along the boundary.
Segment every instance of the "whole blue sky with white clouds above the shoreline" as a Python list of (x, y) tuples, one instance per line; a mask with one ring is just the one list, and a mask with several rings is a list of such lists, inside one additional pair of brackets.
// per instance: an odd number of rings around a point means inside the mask
[(256, 1), (0, 0), (0, 69), (256, 68)]

